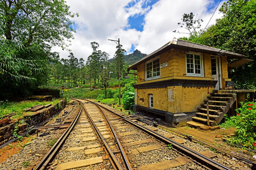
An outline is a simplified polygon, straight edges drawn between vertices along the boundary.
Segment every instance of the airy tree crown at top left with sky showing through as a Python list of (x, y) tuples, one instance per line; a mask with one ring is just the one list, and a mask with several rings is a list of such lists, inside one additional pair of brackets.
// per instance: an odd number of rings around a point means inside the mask
[(65, 47), (65, 40), (73, 37), (69, 18), (75, 14), (64, 0), (1, 0), (0, 15), (5, 38), (25, 46)]

